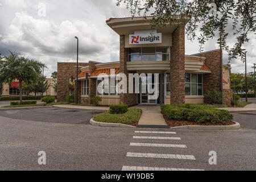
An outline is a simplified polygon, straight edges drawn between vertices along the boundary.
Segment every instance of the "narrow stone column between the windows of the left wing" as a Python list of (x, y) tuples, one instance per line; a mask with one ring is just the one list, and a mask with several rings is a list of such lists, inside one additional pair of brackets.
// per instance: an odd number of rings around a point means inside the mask
[[(95, 71), (96, 69), (95, 64), (97, 63), (93, 61), (89, 61), (89, 75)], [(91, 98), (96, 96), (96, 88), (97, 88), (97, 78), (89, 78), (89, 94), (88, 94), (89, 104), (92, 104), (92, 101), (90, 101)]]

